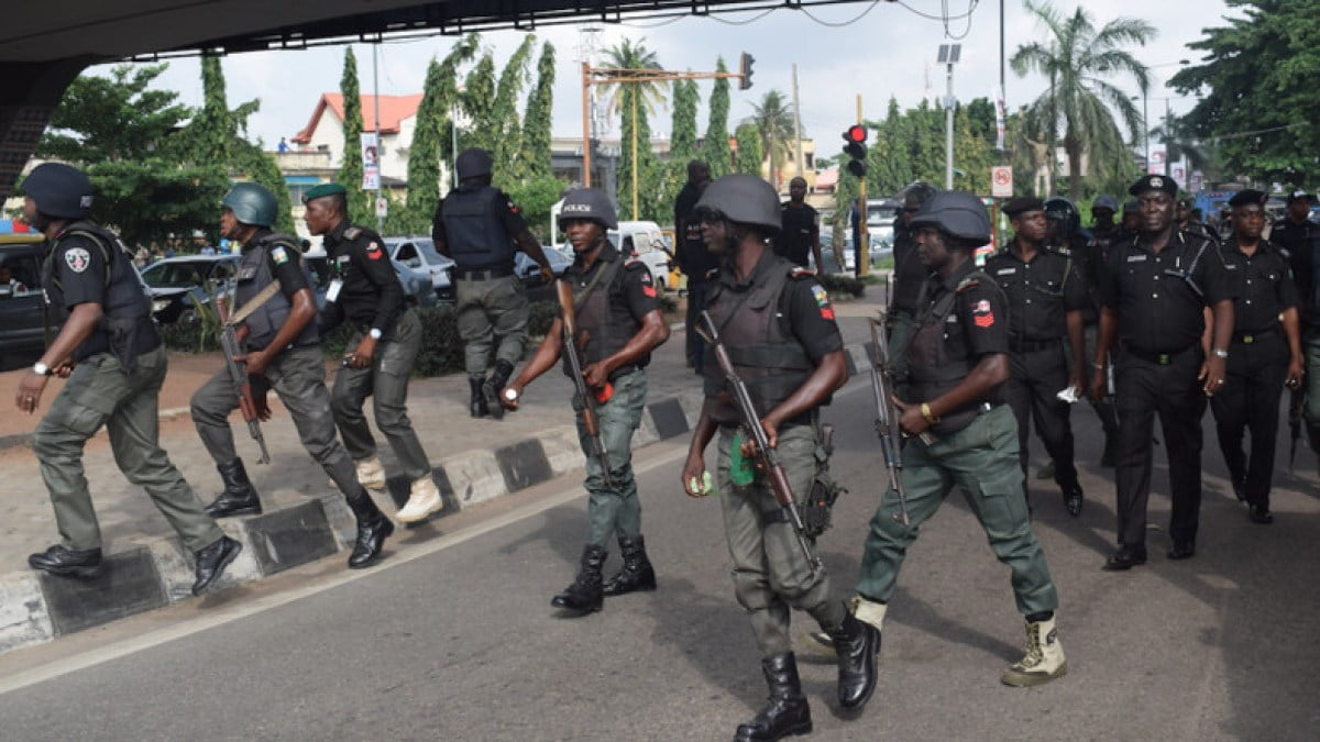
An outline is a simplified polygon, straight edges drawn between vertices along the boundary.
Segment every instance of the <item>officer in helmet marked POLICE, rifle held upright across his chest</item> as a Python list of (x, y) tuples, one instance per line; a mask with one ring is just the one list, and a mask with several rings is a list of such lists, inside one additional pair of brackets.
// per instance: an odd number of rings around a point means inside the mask
[[(578, 189), (564, 198), (560, 228), (568, 235), (577, 259), (564, 280), (573, 287), (574, 314), (586, 345), (581, 349), (582, 375), (597, 395), (599, 434), (609, 461), (594, 455), (586, 433), (579, 399), (578, 437), (586, 454), (587, 543), (577, 580), (554, 595), (552, 605), (583, 615), (601, 610), (605, 595), (655, 590), (656, 576), (642, 537), (642, 502), (632, 474), (632, 433), (642, 424), (647, 401), (651, 351), (669, 339), (669, 325), (660, 316), (651, 272), (639, 260), (626, 260), (606, 238), (618, 228), (610, 198), (597, 189)], [(506, 389), (502, 401), (516, 409), (523, 389), (554, 366), (564, 354), (564, 320), (558, 317), (536, 354)], [(572, 374), (568, 358), (564, 372)], [(602, 582), (601, 568), (610, 537), (618, 536), (623, 569)]]

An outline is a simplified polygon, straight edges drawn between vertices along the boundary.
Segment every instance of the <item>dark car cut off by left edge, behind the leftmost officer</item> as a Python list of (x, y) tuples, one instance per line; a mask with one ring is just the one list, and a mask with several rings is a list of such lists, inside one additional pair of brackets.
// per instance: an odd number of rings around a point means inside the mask
[[(18, 368), (45, 350), (41, 257), (37, 232), (0, 234), (0, 368)], [(51, 337), (59, 331), (50, 327)]]

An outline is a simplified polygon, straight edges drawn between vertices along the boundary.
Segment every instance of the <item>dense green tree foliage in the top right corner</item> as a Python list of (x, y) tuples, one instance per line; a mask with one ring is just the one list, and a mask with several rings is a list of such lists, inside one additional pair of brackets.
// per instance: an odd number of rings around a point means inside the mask
[(1226, 0), (1228, 25), (1189, 46), (1203, 63), (1170, 84), (1200, 100), (1181, 121), (1225, 174), (1313, 189), (1320, 182), (1320, 7), (1315, 0)]

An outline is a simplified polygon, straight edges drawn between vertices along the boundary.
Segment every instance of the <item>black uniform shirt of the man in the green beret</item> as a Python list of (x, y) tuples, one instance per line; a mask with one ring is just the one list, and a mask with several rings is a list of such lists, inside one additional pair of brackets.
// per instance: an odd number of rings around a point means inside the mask
[(404, 309), (404, 287), (399, 283), (384, 251), (380, 235), (346, 220), (326, 235), (326, 255), (334, 277), (343, 281), (334, 300), (327, 294), (321, 313), (321, 330), (329, 331), (345, 318), (362, 327), (374, 327), (389, 335)]

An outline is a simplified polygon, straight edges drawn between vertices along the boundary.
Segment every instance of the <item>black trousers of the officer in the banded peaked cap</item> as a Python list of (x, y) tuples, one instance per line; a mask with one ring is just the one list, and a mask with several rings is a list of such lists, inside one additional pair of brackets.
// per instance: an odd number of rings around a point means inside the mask
[(1196, 376), (1200, 343), (1171, 355), (1168, 363), (1122, 353), (1114, 380), (1118, 409), (1118, 543), (1146, 545), (1146, 504), (1151, 490), (1151, 440), (1155, 416), (1168, 449), (1170, 496), (1173, 512), (1168, 533), (1173, 541), (1195, 543), (1201, 516), (1201, 416), (1205, 395)]

